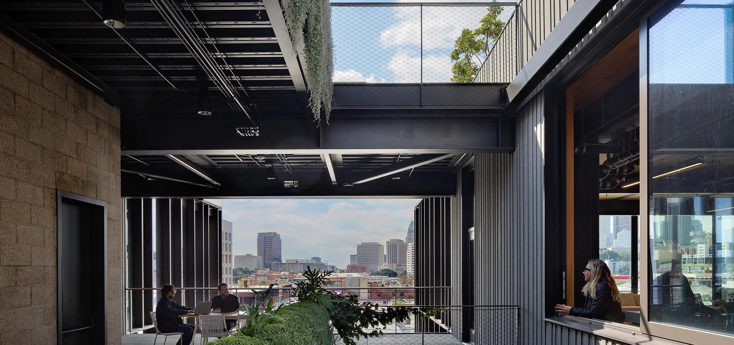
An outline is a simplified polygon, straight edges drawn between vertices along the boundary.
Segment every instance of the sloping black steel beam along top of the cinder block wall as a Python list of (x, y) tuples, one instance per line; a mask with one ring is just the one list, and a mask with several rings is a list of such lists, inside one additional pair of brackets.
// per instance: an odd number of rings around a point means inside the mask
[(41, 40), (40, 37), (37, 37), (31, 31), (28, 31), (28, 29), (21, 26), (21, 24), (18, 24), (18, 22), (14, 21), (3, 12), (0, 12), (0, 31), (8, 34), (14, 40), (21, 42), (22, 45), (30, 48), (35, 53), (39, 53), (42, 59), (60, 67), (72, 78), (75, 78), (77, 81), (81, 82), (81, 84), (84, 84), (84, 86), (89, 87), (92, 92), (99, 94), (106, 102), (117, 106), (122, 105), (123, 97), (115, 90), (104, 84), (91, 73), (87, 72), (87, 70), (84, 70), (84, 68), (81, 68), (79, 64), (71, 61), (67, 56), (51, 47), (51, 45), (48, 45), (48, 43)]

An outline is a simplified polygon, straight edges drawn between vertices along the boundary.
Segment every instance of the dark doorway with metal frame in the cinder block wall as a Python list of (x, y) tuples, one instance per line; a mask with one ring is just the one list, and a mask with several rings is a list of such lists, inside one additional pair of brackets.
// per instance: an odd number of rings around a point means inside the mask
[(107, 344), (107, 204), (57, 192), (58, 344)]

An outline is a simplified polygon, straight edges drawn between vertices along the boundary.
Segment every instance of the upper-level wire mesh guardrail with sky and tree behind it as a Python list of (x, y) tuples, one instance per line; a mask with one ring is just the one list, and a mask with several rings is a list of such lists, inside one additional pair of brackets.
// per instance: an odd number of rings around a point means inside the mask
[(333, 3), (333, 81), (470, 82), (515, 12), (487, 4)]

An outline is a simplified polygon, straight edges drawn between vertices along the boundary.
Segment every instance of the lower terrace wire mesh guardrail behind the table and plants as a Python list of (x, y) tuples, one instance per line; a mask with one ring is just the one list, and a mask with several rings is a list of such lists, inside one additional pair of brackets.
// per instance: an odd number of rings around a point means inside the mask
[[(261, 286), (230, 288), (230, 294), (238, 297), (240, 305), (261, 303), (273, 299), (285, 305), (296, 303), (292, 288), (275, 288), (265, 297), (252, 292), (264, 291)], [(517, 305), (451, 305), (451, 288), (440, 287), (364, 287), (329, 288), (340, 294), (354, 294), (361, 302), (377, 303), (379, 308), (404, 305), (407, 308), (431, 308), (435, 315), (411, 316), (404, 322), (393, 322), (385, 327), (366, 328), (365, 331), (381, 330), (384, 335), (377, 338), (360, 338), (359, 345), (460, 345), (473, 344), (519, 344), (520, 308)], [(195, 307), (196, 302), (211, 300), (217, 288), (178, 288), (175, 299), (179, 303)], [(126, 320), (128, 333), (151, 332), (152, 322), (144, 313), (155, 311), (160, 299), (159, 289), (126, 289)], [(422, 304), (430, 301), (430, 305)], [(417, 304), (416, 304), (417, 302)], [(143, 303), (143, 304), (141, 304)], [(186, 319), (186, 322), (194, 322)], [(341, 338), (334, 333), (335, 344)]]

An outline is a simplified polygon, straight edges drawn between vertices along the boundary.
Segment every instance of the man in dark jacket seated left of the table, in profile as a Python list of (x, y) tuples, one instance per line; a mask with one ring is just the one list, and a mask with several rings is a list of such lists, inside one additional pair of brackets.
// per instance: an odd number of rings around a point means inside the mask
[(181, 314), (192, 313), (194, 308), (180, 305), (173, 297), (176, 294), (176, 288), (171, 284), (165, 284), (161, 287), (161, 300), (156, 305), (156, 320), (158, 330), (161, 333), (181, 332), (181, 339), (178, 339), (177, 345), (191, 344), (194, 337), (195, 327), (193, 324), (184, 324), (180, 317)]

